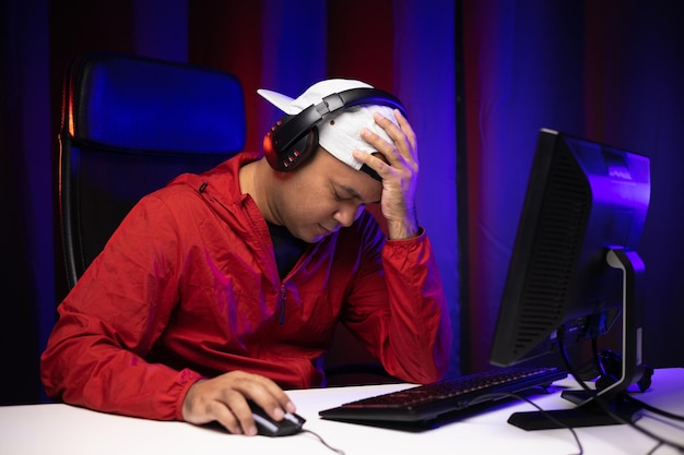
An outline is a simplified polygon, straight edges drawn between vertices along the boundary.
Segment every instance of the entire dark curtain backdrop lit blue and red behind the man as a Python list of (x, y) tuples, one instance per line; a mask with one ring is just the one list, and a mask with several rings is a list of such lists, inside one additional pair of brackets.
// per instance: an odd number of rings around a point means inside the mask
[(418, 217), (455, 327), (449, 375), (488, 368), (539, 129), (648, 155), (644, 357), (656, 367), (684, 363), (675, 348), (684, 345), (679, 2), (9, 0), (0, 12), (0, 349), (13, 370), (0, 403), (43, 398), (37, 359), (67, 291), (56, 188), (61, 80), (71, 58), (92, 50), (235, 73), (247, 99), (247, 148), (260, 146), (278, 117), (259, 87), (297, 95), (335, 76), (394, 92), (418, 135)]

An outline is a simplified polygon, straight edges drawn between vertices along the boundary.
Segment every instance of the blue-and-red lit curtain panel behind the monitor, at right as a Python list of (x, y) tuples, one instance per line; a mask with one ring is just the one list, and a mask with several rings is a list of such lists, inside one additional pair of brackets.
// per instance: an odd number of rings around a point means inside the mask
[(651, 158), (644, 361), (681, 366), (684, 10), (674, 1), (463, 1), (469, 275), (461, 360), (487, 368), (540, 128)]

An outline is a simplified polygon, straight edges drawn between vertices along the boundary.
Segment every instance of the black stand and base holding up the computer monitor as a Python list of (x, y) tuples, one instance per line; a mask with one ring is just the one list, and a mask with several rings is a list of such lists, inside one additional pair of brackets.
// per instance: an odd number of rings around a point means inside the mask
[(609, 249), (606, 262), (623, 271), (622, 376), (601, 391), (565, 391), (562, 396), (576, 406), (570, 409), (515, 412), (508, 423), (523, 430), (598, 427), (634, 421), (638, 406), (624, 399), (627, 388), (641, 378), (641, 282), (644, 262), (635, 251)]

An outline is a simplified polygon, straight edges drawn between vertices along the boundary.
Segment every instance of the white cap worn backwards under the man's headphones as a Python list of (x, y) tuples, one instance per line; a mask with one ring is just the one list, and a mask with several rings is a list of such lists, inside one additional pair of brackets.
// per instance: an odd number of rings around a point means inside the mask
[[(263, 88), (258, 89), (257, 93), (283, 112), (297, 115), (312, 105), (322, 103), (326, 96), (352, 88), (373, 88), (373, 86), (361, 81), (330, 79), (311, 85), (296, 99)], [(326, 117), (323, 122), (317, 125), (319, 145), (342, 163), (354, 169), (361, 169), (363, 164), (352, 156), (352, 151), (359, 149), (368, 154), (378, 152), (361, 137), (363, 128), (367, 128), (390, 144), (393, 143), (385, 130), (373, 119), (374, 112), (379, 112), (397, 123), (391, 107), (378, 105), (352, 106), (338, 112), (332, 112)]]

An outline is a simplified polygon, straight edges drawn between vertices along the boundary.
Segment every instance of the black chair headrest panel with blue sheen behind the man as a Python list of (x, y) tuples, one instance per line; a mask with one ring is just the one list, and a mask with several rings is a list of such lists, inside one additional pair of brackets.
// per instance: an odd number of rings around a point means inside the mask
[(238, 152), (245, 98), (226, 72), (96, 52), (68, 70), (62, 129), (75, 141), (165, 152)]

